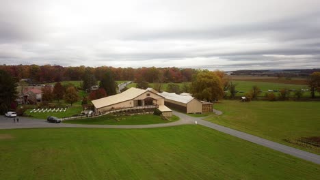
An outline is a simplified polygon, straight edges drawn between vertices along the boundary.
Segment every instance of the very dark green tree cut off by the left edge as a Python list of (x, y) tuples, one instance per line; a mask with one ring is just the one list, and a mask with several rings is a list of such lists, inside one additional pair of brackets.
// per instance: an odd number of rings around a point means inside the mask
[(10, 105), (16, 100), (16, 80), (3, 70), (0, 70), (0, 114), (10, 109)]

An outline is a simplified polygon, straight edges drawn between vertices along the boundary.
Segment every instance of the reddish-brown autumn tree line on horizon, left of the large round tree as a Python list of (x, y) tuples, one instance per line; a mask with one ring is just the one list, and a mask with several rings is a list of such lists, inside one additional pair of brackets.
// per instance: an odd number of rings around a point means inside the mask
[(30, 78), (37, 82), (59, 82), (63, 80), (83, 80), (85, 72), (90, 72), (101, 80), (105, 72), (111, 71), (115, 80), (140, 80), (146, 82), (185, 82), (191, 81), (192, 76), (198, 72), (191, 68), (178, 67), (63, 67), (61, 65), (0, 65), (17, 80)]

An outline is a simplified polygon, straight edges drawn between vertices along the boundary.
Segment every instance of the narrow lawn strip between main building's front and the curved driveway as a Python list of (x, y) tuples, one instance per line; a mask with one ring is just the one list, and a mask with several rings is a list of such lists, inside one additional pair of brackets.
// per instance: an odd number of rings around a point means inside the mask
[(105, 115), (101, 117), (94, 117), (88, 119), (68, 120), (64, 123), (79, 123), (79, 124), (106, 124), (106, 125), (142, 125), (142, 124), (157, 124), (157, 123), (170, 123), (178, 121), (179, 118), (173, 116), (169, 121), (161, 119), (156, 115), (132, 115), (114, 117), (112, 115)]

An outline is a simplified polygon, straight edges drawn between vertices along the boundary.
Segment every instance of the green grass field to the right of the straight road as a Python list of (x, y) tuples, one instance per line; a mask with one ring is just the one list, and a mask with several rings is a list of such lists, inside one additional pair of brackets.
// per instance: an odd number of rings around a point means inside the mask
[(213, 106), (223, 115), (207, 117), (207, 121), (320, 154), (317, 140), (306, 143), (301, 139), (320, 139), (320, 102), (225, 100)]

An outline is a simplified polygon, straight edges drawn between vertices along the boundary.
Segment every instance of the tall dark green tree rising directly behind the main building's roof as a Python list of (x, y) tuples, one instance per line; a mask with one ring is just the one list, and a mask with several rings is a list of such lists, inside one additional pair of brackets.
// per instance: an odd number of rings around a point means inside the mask
[(114, 80), (114, 75), (110, 70), (107, 70), (107, 72), (101, 79), (100, 87), (105, 89), (107, 95), (115, 95), (117, 93), (116, 92), (117, 83)]

